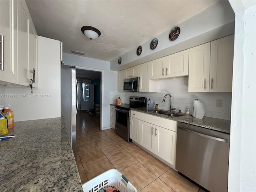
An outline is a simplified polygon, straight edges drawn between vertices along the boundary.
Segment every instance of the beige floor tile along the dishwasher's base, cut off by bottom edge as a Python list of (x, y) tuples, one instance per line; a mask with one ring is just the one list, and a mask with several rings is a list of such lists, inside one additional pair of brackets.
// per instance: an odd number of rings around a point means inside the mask
[(198, 186), (180, 176), (173, 169), (168, 170), (159, 178), (176, 192), (198, 192), (199, 190)]

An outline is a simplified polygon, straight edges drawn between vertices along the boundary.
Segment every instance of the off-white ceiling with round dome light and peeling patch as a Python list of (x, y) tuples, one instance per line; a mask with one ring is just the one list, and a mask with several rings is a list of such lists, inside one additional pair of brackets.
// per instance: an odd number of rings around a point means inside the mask
[[(63, 42), (63, 52), (112, 61), (218, 0), (26, 0), (37, 34)], [(90, 40), (82, 26), (101, 36)], [(182, 31), (181, 31), (182, 32)]]

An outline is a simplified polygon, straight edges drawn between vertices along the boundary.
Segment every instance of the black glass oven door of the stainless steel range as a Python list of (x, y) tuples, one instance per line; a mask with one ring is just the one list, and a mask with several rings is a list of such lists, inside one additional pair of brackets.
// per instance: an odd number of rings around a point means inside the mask
[(130, 110), (116, 108), (116, 126), (130, 133)]

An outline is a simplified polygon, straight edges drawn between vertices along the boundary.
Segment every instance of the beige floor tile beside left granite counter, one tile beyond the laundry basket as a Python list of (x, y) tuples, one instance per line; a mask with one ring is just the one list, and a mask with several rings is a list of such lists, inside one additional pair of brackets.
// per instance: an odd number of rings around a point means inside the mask
[(106, 156), (102, 153), (100, 149), (94, 149), (88, 152), (80, 153), (79, 156), (83, 166), (95, 163), (106, 158)]

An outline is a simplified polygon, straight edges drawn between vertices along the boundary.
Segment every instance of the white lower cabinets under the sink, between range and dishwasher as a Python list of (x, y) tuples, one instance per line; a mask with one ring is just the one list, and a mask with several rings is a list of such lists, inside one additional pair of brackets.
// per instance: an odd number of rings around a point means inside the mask
[(140, 120), (131, 117), (130, 123), (132, 140), (175, 166), (178, 124), (176, 121), (140, 113)]

